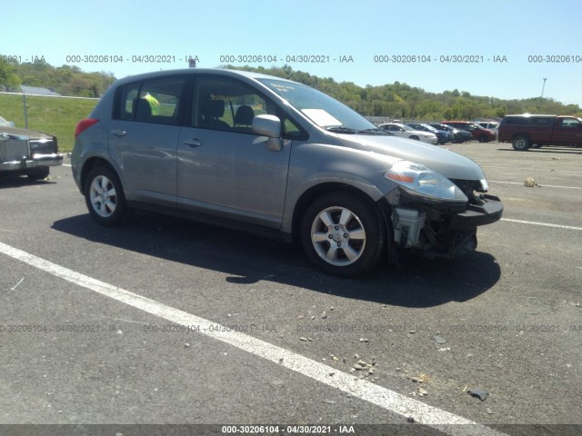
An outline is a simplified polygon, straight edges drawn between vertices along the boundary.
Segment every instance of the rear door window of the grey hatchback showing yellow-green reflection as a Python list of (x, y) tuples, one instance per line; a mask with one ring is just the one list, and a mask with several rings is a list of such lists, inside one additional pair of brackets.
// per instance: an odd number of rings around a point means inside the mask
[(114, 117), (142, 123), (180, 124), (185, 84), (183, 77), (127, 84), (117, 94)]

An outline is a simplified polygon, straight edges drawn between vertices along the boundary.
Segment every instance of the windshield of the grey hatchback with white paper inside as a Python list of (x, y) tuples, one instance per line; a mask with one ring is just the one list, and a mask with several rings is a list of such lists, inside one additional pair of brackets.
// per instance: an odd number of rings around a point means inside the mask
[(259, 81), (320, 127), (341, 127), (356, 132), (377, 129), (356, 111), (314, 88), (276, 79)]

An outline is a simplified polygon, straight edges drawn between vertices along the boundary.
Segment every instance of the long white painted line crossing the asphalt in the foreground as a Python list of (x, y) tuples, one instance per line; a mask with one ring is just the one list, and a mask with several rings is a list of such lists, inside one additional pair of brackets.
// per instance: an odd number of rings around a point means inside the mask
[[(452, 435), (501, 436), (504, 433), (469, 421), (447, 411), (416, 401), (395, 391), (378, 386), (370, 381), (357, 379), (346, 372), (308, 359), (295, 352), (287, 351), (268, 342), (261, 341), (241, 332), (216, 332), (210, 326), (216, 327), (216, 322), (208, 321), (191, 313), (183, 312), (161, 302), (150, 300), (134, 292), (125, 291), (114, 285), (100, 282), (79, 272), (64, 268), (55, 263), (45, 261), (33, 254), (23, 252), (15, 247), (0, 243), (0, 253), (4, 253), (18, 261), (27, 263), (42, 271), (49, 272), (67, 282), (75, 283), (94, 292), (98, 292), (117, 302), (123, 302), (141, 311), (158, 316), (170, 322), (184, 326), (199, 326), (199, 331), (207, 336), (226, 342), (240, 350), (262, 357), (276, 365), (298, 372), (313, 380), (325, 383), (327, 386), (345, 391), (360, 400), (369, 401), (386, 411), (394, 412), (403, 417), (411, 417), (420, 424), (434, 427), (438, 431)], [(226, 329), (225, 329), (226, 330)], [(330, 372), (334, 372), (330, 376)], [(461, 425), (459, 425), (461, 424)]]

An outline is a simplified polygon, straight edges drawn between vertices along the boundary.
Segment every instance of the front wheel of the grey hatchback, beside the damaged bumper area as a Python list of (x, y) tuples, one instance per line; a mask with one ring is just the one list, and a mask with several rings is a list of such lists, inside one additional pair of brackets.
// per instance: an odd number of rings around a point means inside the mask
[(307, 208), (301, 243), (319, 270), (353, 277), (380, 261), (386, 229), (373, 203), (351, 193), (326, 193)]

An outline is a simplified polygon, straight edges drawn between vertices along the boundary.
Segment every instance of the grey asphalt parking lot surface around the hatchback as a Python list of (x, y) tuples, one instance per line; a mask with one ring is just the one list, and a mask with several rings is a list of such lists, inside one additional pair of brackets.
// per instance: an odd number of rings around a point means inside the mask
[(152, 213), (99, 227), (69, 166), (0, 178), (0, 424), (578, 434), (582, 149), (445, 147), (483, 167), (502, 221), (476, 253), (358, 280)]

